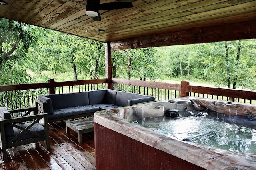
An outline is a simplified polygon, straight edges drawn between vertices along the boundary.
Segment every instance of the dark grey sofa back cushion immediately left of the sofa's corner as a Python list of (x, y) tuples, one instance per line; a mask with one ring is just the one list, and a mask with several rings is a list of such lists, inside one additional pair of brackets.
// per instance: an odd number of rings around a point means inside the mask
[(104, 103), (106, 90), (93, 90), (88, 92), (90, 104)]

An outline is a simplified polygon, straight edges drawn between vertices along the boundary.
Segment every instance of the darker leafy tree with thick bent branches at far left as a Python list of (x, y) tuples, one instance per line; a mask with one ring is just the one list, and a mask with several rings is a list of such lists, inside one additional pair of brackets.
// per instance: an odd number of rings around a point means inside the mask
[(0, 18), (0, 84), (28, 82), (24, 63), (28, 48), (36, 41), (31, 29), (30, 25)]

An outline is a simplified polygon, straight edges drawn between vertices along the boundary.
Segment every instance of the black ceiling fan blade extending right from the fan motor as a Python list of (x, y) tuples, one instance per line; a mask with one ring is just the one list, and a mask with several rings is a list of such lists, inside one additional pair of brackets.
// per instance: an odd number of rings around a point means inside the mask
[(132, 2), (109, 2), (99, 4), (99, 10), (115, 10), (115, 9), (122, 9), (122, 8), (132, 8)]

